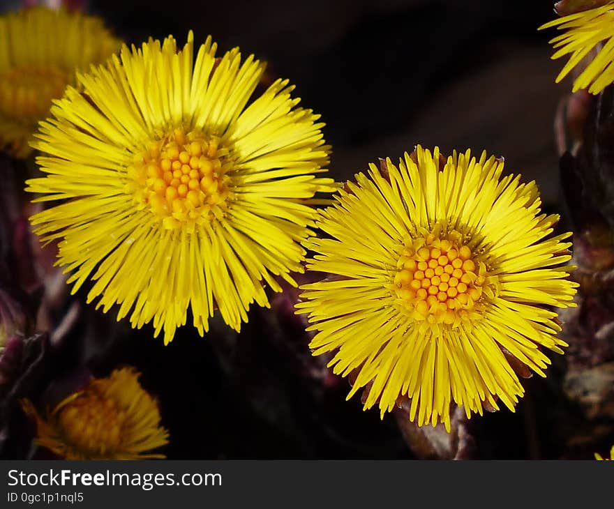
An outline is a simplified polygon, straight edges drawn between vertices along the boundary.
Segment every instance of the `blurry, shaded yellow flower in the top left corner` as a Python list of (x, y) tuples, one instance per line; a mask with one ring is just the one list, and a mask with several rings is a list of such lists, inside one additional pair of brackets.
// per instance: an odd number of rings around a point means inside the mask
[(75, 69), (102, 63), (119, 40), (96, 17), (35, 7), (0, 16), (0, 41), (0, 149), (24, 158)]

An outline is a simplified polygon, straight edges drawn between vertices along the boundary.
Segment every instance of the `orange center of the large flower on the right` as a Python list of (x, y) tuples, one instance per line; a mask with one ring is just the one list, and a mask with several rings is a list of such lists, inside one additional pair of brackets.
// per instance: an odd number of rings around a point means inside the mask
[(486, 264), (452, 230), (405, 245), (394, 276), (396, 295), (417, 320), (456, 324), (480, 310), (486, 287)]

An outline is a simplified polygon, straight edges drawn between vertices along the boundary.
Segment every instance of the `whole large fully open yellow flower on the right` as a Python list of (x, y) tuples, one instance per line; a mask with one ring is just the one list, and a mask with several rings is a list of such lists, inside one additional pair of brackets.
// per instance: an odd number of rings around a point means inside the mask
[(384, 174), (370, 165), (320, 212), (308, 269), (331, 276), (301, 287), (297, 312), (318, 331), (313, 354), (334, 351), (334, 372), (356, 377), (348, 399), (367, 386), (383, 418), (407, 396), (412, 421), (449, 430), (451, 402), (467, 417), (497, 399), (514, 410), (506, 355), (545, 376), (540, 347), (567, 346), (546, 306), (574, 305), (576, 284), (570, 234), (546, 240), (558, 216), (540, 214), (534, 182), (501, 178), (486, 153), (440, 157), (417, 146)]

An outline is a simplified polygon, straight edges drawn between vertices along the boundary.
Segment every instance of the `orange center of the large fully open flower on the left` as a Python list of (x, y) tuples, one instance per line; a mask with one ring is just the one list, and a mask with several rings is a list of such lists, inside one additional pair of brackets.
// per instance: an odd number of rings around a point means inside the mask
[(227, 155), (218, 137), (174, 130), (128, 167), (128, 190), (165, 229), (193, 231), (197, 224), (222, 218), (234, 197)]

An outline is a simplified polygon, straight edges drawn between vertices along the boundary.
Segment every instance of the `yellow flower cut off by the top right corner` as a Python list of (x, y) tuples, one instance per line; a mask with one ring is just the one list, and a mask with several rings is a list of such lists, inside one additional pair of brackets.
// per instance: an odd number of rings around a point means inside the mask
[(590, 93), (597, 94), (614, 82), (613, 9), (614, 1), (609, 1), (604, 6), (563, 16), (539, 27), (541, 30), (557, 26), (557, 29), (565, 30), (565, 33), (550, 41), (557, 50), (553, 59), (571, 54), (556, 78), (557, 83), (595, 47), (599, 52), (574, 80), (573, 91), (588, 89)]

